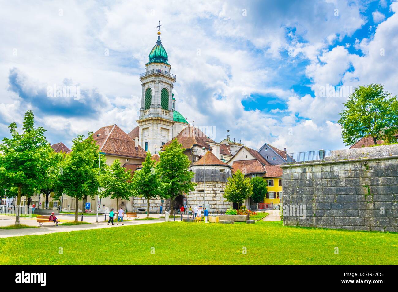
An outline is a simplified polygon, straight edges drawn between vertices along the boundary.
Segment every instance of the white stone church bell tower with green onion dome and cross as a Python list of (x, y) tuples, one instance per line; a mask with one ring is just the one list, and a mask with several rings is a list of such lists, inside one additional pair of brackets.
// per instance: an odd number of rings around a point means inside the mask
[(160, 147), (173, 137), (173, 84), (176, 75), (170, 73), (166, 50), (160, 41), (160, 21), (158, 40), (149, 54), (146, 71), (140, 74), (142, 97), (139, 120), (139, 145), (151, 154), (158, 153)]

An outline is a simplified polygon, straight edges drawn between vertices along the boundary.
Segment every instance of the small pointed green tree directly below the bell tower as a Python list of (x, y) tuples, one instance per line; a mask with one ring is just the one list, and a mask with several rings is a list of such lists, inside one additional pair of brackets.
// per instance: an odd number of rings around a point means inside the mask
[(136, 170), (133, 176), (133, 187), (139, 197), (146, 199), (146, 217), (149, 217), (149, 200), (151, 198), (163, 198), (164, 186), (160, 179), (159, 168), (155, 167), (155, 161), (151, 159), (150, 152), (146, 153), (142, 168)]

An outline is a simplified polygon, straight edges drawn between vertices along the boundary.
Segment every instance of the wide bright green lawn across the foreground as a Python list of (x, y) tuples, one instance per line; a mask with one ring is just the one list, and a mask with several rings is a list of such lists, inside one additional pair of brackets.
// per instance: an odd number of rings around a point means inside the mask
[[(59, 247), (63, 254), (59, 254)], [(246, 254), (242, 252), (245, 249)], [(398, 234), (291, 227), (283, 226), (281, 221), (164, 222), (0, 238), (0, 254), (0, 264), (29, 265), (109, 262), (396, 265)]]

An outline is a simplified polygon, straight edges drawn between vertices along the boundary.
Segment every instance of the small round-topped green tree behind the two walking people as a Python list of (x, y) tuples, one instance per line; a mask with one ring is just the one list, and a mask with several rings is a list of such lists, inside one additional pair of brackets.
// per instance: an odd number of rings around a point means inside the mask
[(115, 159), (111, 166), (106, 166), (100, 176), (101, 197), (116, 199), (119, 208), (119, 199), (129, 201), (133, 195), (133, 184), (131, 183), (131, 170), (121, 167), (119, 159)]

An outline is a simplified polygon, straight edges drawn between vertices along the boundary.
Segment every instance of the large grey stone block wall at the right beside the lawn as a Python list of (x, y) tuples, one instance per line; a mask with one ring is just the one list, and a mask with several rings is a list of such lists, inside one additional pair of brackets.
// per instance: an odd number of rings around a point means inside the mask
[(327, 159), (281, 166), (284, 224), (398, 232), (398, 145)]

